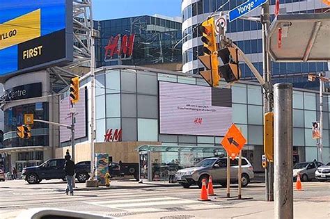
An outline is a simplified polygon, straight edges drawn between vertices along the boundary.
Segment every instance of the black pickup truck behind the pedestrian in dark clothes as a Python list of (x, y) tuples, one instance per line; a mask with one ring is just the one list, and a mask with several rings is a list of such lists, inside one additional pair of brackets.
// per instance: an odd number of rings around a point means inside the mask
[[(63, 179), (65, 181), (64, 171), (65, 159), (50, 159), (38, 166), (24, 168), (22, 176), (29, 184), (38, 184), (42, 179)], [(76, 178), (79, 182), (84, 182), (89, 178), (88, 172), (91, 172), (91, 165), (86, 162), (79, 162), (75, 167)]]

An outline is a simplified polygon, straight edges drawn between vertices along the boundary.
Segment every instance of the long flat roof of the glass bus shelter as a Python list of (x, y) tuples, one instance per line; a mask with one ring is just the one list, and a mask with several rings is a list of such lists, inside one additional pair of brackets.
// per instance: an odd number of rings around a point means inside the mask
[(210, 152), (223, 153), (225, 150), (220, 146), (196, 146), (196, 145), (141, 145), (139, 152)]

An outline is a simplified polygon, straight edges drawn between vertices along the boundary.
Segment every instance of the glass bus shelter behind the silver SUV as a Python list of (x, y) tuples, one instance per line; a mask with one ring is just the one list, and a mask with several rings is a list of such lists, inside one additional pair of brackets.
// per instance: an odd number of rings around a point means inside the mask
[(225, 154), (219, 146), (141, 145), (137, 150), (141, 181), (167, 181), (180, 169), (190, 168), (207, 157)]

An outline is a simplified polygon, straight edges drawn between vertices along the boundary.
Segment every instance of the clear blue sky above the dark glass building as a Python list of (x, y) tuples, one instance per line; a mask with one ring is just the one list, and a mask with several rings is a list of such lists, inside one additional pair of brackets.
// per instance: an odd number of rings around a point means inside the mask
[(93, 0), (93, 19), (141, 15), (181, 17), (182, 0)]

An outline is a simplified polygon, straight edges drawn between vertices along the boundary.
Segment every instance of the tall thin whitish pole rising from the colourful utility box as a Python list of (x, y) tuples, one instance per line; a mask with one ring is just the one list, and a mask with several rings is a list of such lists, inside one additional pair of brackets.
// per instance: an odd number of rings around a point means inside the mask
[[(93, 21), (92, 1), (90, 1), (90, 18)], [(94, 179), (94, 139), (95, 139), (95, 38), (91, 22), (91, 177)]]

